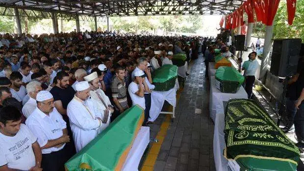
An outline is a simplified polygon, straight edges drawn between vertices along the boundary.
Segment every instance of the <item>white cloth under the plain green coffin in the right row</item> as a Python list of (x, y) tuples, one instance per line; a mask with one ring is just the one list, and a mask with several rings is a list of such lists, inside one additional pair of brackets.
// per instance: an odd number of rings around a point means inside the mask
[(222, 114), (223, 112), (223, 101), (228, 101), (231, 98), (247, 98), (247, 93), (245, 89), (241, 86), (239, 91), (235, 94), (232, 93), (222, 93), (218, 88), (216, 88), (215, 76), (211, 76), (210, 78), (210, 102), (209, 102), (209, 110), (210, 117), (213, 121), (215, 121), (215, 115)]

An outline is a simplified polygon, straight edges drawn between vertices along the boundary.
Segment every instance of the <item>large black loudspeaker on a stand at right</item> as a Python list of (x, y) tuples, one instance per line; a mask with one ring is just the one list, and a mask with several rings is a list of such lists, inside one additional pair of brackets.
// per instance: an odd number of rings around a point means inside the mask
[(270, 73), (286, 77), (297, 73), (299, 55), (301, 50), (301, 39), (275, 39)]

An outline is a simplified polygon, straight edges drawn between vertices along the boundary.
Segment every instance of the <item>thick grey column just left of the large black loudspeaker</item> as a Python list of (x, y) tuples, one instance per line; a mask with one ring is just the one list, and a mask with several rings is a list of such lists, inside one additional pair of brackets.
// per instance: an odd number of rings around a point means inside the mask
[(265, 83), (268, 62), (269, 62), (269, 58), (271, 57), (271, 56), (269, 56), (269, 52), (270, 52), (270, 49), (271, 49), (271, 43), (272, 43), (271, 38), (272, 38), (272, 35), (273, 35), (273, 28), (274, 28), (274, 25), (267, 25), (266, 26), (264, 49), (263, 49), (261, 69), (260, 69), (260, 75), (259, 75), (259, 79), (262, 81), (262, 83)]

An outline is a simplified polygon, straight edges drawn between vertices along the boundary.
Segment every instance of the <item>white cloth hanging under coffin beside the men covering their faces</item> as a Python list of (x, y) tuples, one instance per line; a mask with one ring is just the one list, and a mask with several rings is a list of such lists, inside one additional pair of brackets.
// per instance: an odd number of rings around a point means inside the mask
[(152, 91), (149, 121), (154, 122), (157, 119), (164, 105), (165, 100), (173, 107), (176, 107), (176, 103), (177, 103), (176, 91), (177, 91), (176, 87), (165, 92)]

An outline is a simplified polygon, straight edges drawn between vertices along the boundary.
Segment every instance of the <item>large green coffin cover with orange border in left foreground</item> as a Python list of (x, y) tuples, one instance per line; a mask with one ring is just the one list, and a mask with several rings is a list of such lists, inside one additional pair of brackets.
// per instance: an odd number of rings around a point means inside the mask
[(134, 105), (66, 164), (66, 171), (121, 171), (127, 154), (144, 121), (144, 110)]

